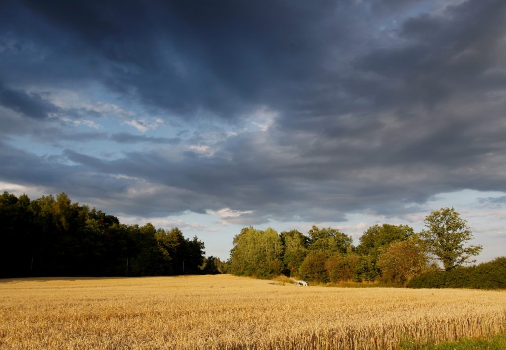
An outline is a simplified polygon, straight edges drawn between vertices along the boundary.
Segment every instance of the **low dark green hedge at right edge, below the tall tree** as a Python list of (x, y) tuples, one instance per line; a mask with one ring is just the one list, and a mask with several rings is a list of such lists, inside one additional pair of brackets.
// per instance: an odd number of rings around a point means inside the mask
[(409, 288), (506, 288), (506, 257), (498, 257), (478, 266), (433, 271), (413, 278)]

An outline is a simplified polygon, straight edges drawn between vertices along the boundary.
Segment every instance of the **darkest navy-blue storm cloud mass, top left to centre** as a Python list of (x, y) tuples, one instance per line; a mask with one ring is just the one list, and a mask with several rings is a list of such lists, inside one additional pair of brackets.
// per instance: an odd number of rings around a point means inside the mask
[[(4, 26), (20, 33), (15, 47), (45, 51), (51, 68), (46, 76), (33, 73), (40, 79), (65, 80), (52, 74), (56, 63), (71, 79), (101, 80), (148, 105), (183, 115), (204, 108), (221, 117), (277, 101), (278, 89), (297, 94), (293, 83), (317, 83), (327, 73), (320, 64), (329, 58), (328, 40), (339, 46), (350, 30), (348, 2), (114, 4), (25, 2), (23, 15), (18, 10)], [(22, 49), (7, 50), (5, 60), (16, 67)]]

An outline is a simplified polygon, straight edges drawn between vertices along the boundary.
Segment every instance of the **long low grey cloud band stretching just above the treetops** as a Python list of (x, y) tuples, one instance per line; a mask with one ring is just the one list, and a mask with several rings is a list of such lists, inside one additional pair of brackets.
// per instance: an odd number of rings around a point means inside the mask
[[(241, 144), (248, 142), (243, 140)], [(249, 146), (237, 150), (231, 142), (227, 147), (234, 148), (236, 158), (212, 157), (198, 162), (184, 156), (167, 160), (157, 153), (139, 152), (113, 161), (71, 151), (66, 155), (72, 162), (91, 171), (145, 179), (164, 188), (177, 188), (212, 199), (205, 202), (207, 207), (194, 203), (192, 210), (195, 211), (223, 207), (241, 211), (255, 209), (236, 218), (243, 223), (263, 221), (268, 217), (278, 220), (343, 220), (345, 212), (363, 207), (364, 201), (367, 208), (377, 213), (402, 214), (417, 209), (416, 206), (405, 208), (407, 204), (421, 205), (433, 193), (452, 190), (455, 186), (467, 188), (476, 182), (476, 174), (466, 166), (455, 168), (448, 164), (427, 171), (424, 165), (385, 168), (371, 164), (350, 170), (343, 169), (341, 163), (332, 162), (328, 156), (287, 161), (288, 154), (267, 156), (263, 154), (264, 150)], [(266, 145), (266, 149), (269, 147)], [(258, 159), (262, 159), (261, 165)], [(488, 169), (488, 174), (482, 172), (480, 189), (486, 190), (497, 180), (495, 186), (506, 186), (504, 179), (495, 178), (498, 171), (500, 165)], [(445, 181), (441, 180), (443, 173), (447, 176)], [(419, 187), (420, 183), (424, 184), (423, 188)], [(311, 208), (307, 203), (312, 203)]]

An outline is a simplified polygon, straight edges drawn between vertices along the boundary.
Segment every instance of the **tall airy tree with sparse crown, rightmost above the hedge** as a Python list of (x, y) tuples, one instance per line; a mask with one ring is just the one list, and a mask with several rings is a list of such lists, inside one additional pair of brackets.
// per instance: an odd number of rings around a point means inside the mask
[(445, 270), (451, 270), (467, 262), (481, 252), (482, 246), (464, 245), (473, 239), (473, 233), (466, 220), (452, 208), (434, 210), (425, 218), (428, 230), (421, 237), (431, 253), (439, 257)]

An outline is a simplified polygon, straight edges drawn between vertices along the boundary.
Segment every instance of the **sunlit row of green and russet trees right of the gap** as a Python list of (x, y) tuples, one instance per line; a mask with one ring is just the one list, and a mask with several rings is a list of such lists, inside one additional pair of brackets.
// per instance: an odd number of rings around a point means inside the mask
[(283, 274), (318, 283), (407, 285), (415, 277), (473, 263), (482, 249), (466, 245), (473, 234), (453, 208), (432, 211), (425, 224), (417, 233), (408, 225), (373, 225), (357, 246), (351, 236), (330, 227), (313, 226), (307, 235), (245, 227), (233, 239), (227, 272), (259, 278)]

